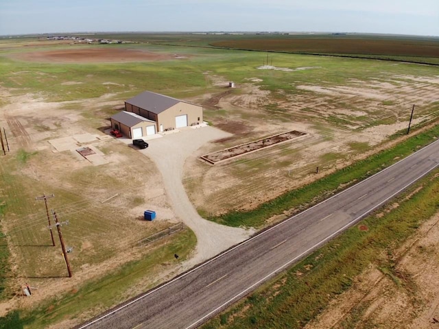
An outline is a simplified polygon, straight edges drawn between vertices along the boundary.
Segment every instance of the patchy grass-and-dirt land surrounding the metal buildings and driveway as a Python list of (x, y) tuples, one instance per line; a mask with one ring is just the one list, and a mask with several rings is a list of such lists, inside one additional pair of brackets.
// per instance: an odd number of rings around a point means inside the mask
[[(436, 122), (439, 110), (437, 66), (355, 58), (5, 40), (0, 74), (0, 127), (11, 148), (0, 162), (0, 248), (7, 242), (10, 250), (10, 267), (0, 271), (0, 317), (19, 309), (28, 328), (57, 321), (68, 328), (79, 314), (91, 316), (185, 269), (173, 255), (184, 259), (193, 249), (188, 231), (132, 248), (180, 219), (154, 162), (108, 135), (108, 117), (129, 97), (152, 90), (201, 104), (206, 121), (232, 134), (185, 162), (185, 187), (206, 217), (255, 208), (386, 147), (407, 129), (413, 104), (414, 130)], [(227, 88), (230, 81), (236, 88)], [(215, 166), (199, 160), (289, 130), (307, 135)], [(75, 152), (84, 146), (99, 163)], [(49, 209), (69, 220), (62, 226), (73, 247), (69, 280), (58, 240), (50, 245), (44, 202), (35, 200), (43, 193), (55, 194)], [(146, 208), (158, 212), (157, 221), (141, 220)], [(135, 274), (119, 291), (129, 271)], [(25, 282), (38, 287), (32, 299), (19, 297)], [(110, 298), (95, 302), (104, 291)]]

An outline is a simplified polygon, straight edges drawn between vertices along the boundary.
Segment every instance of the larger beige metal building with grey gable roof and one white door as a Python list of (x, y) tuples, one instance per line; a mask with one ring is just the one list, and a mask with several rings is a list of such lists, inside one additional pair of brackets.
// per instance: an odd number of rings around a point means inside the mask
[(145, 91), (125, 102), (125, 110), (156, 123), (156, 132), (203, 122), (202, 106)]

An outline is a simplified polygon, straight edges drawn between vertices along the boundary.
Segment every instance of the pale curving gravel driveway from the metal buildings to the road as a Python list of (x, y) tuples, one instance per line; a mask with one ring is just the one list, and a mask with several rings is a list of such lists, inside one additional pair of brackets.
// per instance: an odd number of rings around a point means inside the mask
[(183, 165), (188, 156), (205, 143), (230, 134), (214, 127), (186, 128), (182, 132), (168, 134), (148, 141), (150, 146), (141, 152), (153, 160), (163, 175), (163, 182), (174, 212), (197, 236), (195, 255), (189, 265), (198, 264), (224, 251), (254, 233), (253, 230), (231, 228), (198, 215), (182, 184)]

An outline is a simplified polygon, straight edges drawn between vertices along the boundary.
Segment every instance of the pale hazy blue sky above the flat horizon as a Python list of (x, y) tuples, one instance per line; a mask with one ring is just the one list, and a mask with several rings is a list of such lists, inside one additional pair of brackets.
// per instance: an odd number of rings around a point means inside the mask
[(0, 0), (0, 35), (213, 31), (439, 36), (439, 0)]

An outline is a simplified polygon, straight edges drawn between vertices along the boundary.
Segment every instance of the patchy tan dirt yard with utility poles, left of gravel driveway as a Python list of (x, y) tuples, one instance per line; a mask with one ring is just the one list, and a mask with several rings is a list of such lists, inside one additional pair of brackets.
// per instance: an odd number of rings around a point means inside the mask
[[(13, 297), (0, 303), (1, 317), (8, 310), (36, 306), (139, 259), (150, 249), (132, 249), (137, 241), (180, 219), (168, 202), (154, 163), (97, 130), (82, 116), (79, 109), (85, 107), (98, 110), (102, 103), (119, 107), (119, 102), (108, 101), (110, 95), (53, 102), (30, 93), (15, 96), (6, 88), (1, 88), (0, 93), (8, 99), (0, 108), (0, 126), (5, 129), (10, 147), (0, 173), (3, 178), (6, 174), (13, 177), (7, 186), (2, 186), (1, 195), (8, 195), (10, 200), (20, 196), (23, 201), (10, 201), (8, 220), (2, 221), (10, 247), (12, 273), (8, 291)], [(72, 105), (73, 109), (66, 109)], [(94, 125), (99, 126), (99, 121)], [(106, 125), (108, 122), (102, 119), (100, 126)], [(91, 151), (81, 155), (78, 149)], [(20, 156), (22, 162), (12, 164)], [(99, 158), (90, 158), (94, 156)], [(6, 167), (9, 163), (11, 166)], [(71, 280), (64, 280), (66, 271), (59, 241), (56, 240), (57, 247), (47, 245), (50, 236), (44, 202), (35, 201), (44, 193), (55, 195), (48, 202), (49, 210), (53, 208), (60, 221), (69, 221), (62, 233), (68, 246), (73, 247), (69, 254)], [(146, 209), (156, 210), (154, 222), (143, 220)], [(32, 230), (27, 230), (29, 226)], [(167, 268), (152, 280), (165, 278), (166, 273), (176, 270)], [(21, 297), (20, 287), (25, 282), (38, 287), (32, 299)]]

